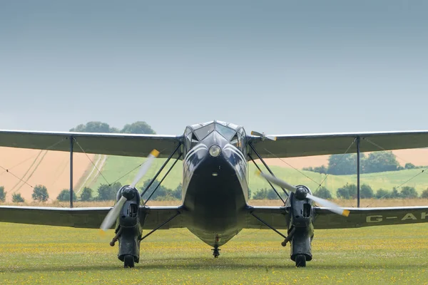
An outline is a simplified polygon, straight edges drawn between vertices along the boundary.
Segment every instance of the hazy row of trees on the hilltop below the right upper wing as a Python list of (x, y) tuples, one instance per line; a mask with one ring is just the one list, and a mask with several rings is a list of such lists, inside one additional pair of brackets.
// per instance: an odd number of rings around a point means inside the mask
[[(391, 151), (372, 152), (368, 156), (365, 153), (360, 154), (360, 173), (398, 171), (421, 167), (424, 166), (415, 166), (412, 163), (406, 163), (402, 167)], [(357, 173), (357, 154), (330, 155), (327, 166), (303, 167), (302, 169), (322, 174), (353, 175)]]

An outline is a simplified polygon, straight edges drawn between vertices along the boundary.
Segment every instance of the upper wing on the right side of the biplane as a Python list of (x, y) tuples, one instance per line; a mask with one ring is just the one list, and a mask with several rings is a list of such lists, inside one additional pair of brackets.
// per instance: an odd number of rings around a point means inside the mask
[[(428, 147), (428, 130), (374, 133), (324, 133), (307, 135), (274, 135), (277, 140), (249, 136), (262, 157), (301, 157), (345, 153), (355, 138), (360, 137), (361, 152)], [(348, 152), (356, 152), (350, 147)]]

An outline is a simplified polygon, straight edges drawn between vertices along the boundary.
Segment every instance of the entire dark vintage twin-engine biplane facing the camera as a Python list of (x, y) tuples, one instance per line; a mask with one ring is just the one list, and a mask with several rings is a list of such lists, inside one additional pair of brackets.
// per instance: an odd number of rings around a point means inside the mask
[[(263, 160), (266, 157), (357, 152), (359, 165), (360, 151), (376, 151), (379, 147), (382, 150), (427, 147), (428, 131), (307, 135), (252, 132), (249, 135), (241, 126), (212, 121), (189, 125), (182, 135), (1, 130), (0, 146), (70, 151), (70, 195), (73, 192), (73, 152), (148, 157), (133, 183), (118, 190), (113, 207), (76, 208), (72, 199), (71, 206), (67, 208), (0, 207), (0, 222), (115, 229), (116, 236), (111, 246), (118, 241), (118, 259), (125, 267), (138, 263), (141, 240), (156, 229), (187, 228), (213, 247), (214, 257), (219, 256), (219, 247), (242, 229), (272, 229), (284, 239), (283, 247), (290, 243), (290, 258), (295, 265), (306, 266), (306, 261), (312, 259), (314, 229), (428, 222), (428, 206), (339, 207), (313, 196), (305, 185), (289, 185), (277, 179)], [(167, 159), (146, 189), (139, 192), (136, 183), (155, 157)], [(149, 207), (146, 203), (150, 197), (146, 201), (141, 197), (171, 159), (175, 162), (183, 160), (182, 203), (177, 207)], [(270, 175), (261, 172), (255, 160), (263, 162)], [(271, 185), (280, 186), (282, 197), (286, 197), (281, 207), (248, 204), (250, 161), (260, 170), (260, 179), (265, 178)], [(359, 185), (360, 167), (357, 167), (357, 174)], [(277, 194), (281, 197), (280, 193)], [(146, 229), (151, 231), (143, 236)], [(280, 230), (286, 233), (282, 234)]]

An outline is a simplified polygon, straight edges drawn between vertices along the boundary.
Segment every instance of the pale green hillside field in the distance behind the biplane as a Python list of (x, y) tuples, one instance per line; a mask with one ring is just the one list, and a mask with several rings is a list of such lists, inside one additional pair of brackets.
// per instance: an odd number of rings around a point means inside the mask
[[(101, 170), (103, 175), (98, 175), (98, 178), (93, 182), (90, 187), (93, 190), (96, 190), (99, 185), (102, 183), (106, 183), (106, 180), (108, 183), (114, 182), (118, 180), (123, 175), (126, 175), (130, 170), (133, 170), (135, 167), (138, 167), (138, 165), (141, 165), (141, 163), (145, 160), (145, 158), (142, 157), (122, 157), (122, 156), (109, 156), (106, 160), (106, 163)], [(153, 177), (157, 170), (161, 167), (161, 165), (165, 162), (165, 159), (158, 159), (153, 162), (153, 165), (151, 169), (146, 173), (145, 177), (141, 180), (141, 183), (137, 185), (137, 187), (140, 187), (142, 183)], [(169, 162), (169, 165), (172, 165), (173, 161)], [(161, 175), (165, 174), (168, 170), (168, 167), (165, 167), (163, 172), (161, 172)], [(250, 189), (253, 190), (253, 192), (256, 192), (256, 190), (261, 188), (269, 188), (270, 186), (267, 184), (267, 182), (263, 179), (260, 179), (259, 177), (256, 177), (254, 175), (255, 173), (255, 166), (252, 162), (249, 163), (249, 185)], [(287, 182), (290, 182), (295, 185), (307, 185), (307, 187), (310, 187), (312, 191), (315, 191), (320, 185), (320, 183), (325, 180), (326, 175), (322, 175), (320, 173), (316, 172), (310, 172), (310, 171), (304, 171), (300, 170), (300, 172), (297, 172), (297, 170), (294, 170), (292, 168), (287, 167), (278, 167), (278, 166), (272, 166), (270, 167), (272, 172), (275, 173), (277, 177), (280, 177), (282, 179), (287, 180)], [(265, 171), (264, 169), (262, 169)], [(380, 172), (380, 173), (370, 173), (370, 174), (363, 174), (361, 175), (361, 183), (367, 184), (372, 187), (374, 192), (376, 192), (379, 188), (383, 188), (385, 190), (392, 190), (392, 187), (397, 187), (401, 185), (402, 183), (406, 182), (410, 178), (414, 177), (418, 173), (421, 173), (423, 169), (414, 169), (414, 170), (401, 170), (401, 171), (393, 171), (393, 172)], [(137, 174), (138, 169), (133, 170), (133, 172), (129, 173), (122, 179), (118, 180), (121, 182), (122, 185), (130, 184), (133, 180), (133, 177)], [(416, 190), (421, 193), (423, 190), (428, 188), (428, 171), (417, 175), (414, 177), (414, 179), (410, 180), (409, 182), (405, 183), (404, 186), (412, 186), (415, 187)], [(165, 187), (168, 187), (170, 189), (175, 189), (175, 187), (178, 186), (178, 184), (181, 182), (183, 176), (183, 162), (180, 160), (177, 162), (173, 170), (171, 170), (170, 174), (165, 178), (163, 181), (163, 185)], [(161, 176), (162, 177), (162, 176)], [(158, 180), (161, 180), (161, 177), (158, 178)], [(309, 178), (308, 178), (309, 177)], [(313, 180), (313, 181), (312, 181)], [(327, 179), (322, 183), (323, 186), (327, 187), (327, 189), (332, 192), (333, 197), (336, 197), (336, 190), (339, 187), (342, 187), (346, 183), (357, 183), (357, 175), (328, 175)]]

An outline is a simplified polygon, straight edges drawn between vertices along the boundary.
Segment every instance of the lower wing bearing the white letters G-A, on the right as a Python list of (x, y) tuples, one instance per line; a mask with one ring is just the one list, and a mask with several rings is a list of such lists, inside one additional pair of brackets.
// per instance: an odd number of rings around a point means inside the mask
[[(315, 207), (315, 229), (345, 229), (355, 227), (382, 226), (388, 224), (414, 224), (428, 222), (428, 206), (344, 208), (349, 209), (348, 217), (330, 212), (325, 207)], [(246, 226), (249, 229), (268, 229), (250, 213), (275, 229), (287, 229), (290, 220), (287, 207), (249, 207)]]

